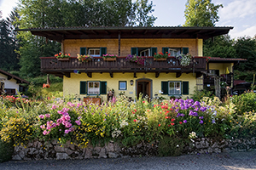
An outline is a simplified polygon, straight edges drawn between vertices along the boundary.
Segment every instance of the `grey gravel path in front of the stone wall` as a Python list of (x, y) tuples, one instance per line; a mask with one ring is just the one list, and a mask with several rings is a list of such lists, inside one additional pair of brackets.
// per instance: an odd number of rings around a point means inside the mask
[(125, 170), (125, 169), (256, 169), (256, 151), (220, 154), (186, 155), (177, 157), (136, 157), (116, 159), (86, 160), (44, 160), (44, 161), (7, 161), (0, 163), (1, 170), (38, 169), (38, 170)]

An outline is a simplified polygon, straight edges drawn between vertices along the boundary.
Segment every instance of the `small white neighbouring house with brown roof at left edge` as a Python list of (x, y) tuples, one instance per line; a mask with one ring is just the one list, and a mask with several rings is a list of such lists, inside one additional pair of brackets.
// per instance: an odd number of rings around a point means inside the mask
[(0, 95), (15, 95), (17, 92), (24, 92), (25, 87), (20, 85), (22, 83), (29, 84), (26, 80), (0, 69)]

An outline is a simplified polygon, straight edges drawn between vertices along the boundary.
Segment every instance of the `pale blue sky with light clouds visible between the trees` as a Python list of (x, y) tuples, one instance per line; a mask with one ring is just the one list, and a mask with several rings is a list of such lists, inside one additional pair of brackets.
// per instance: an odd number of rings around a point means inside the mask
[[(18, 0), (0, 0), (3, 18), (8, 17)], [(154, 13), (157, 17), (154, 26), (183, 26), (184, 10), (187, 0), (153, 0)], [(216, 26), (233, 26), (231, 38), (256, 36), (256, 0), (212, 0), (219, 8), (219, 21)]]

